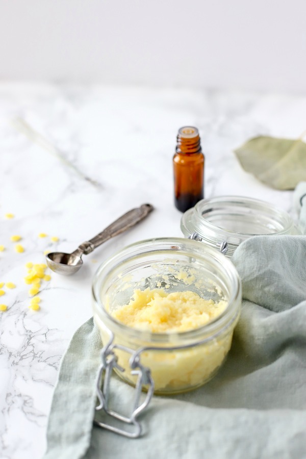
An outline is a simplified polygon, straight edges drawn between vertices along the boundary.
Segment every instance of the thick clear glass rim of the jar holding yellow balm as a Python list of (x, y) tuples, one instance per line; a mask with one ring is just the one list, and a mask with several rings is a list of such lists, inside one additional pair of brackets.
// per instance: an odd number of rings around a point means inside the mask
[[(152, 333), (148, 330), (140, 330), (129, 327), (114, 319), (114, 317), (106, 311), (103, 302), (99, 298), (99, 280), (104, 278), (107, 282), (107, 278), (110, 277), (111, 273), (114, 272), (118, 266), (120, 266), (120, 263), (137, 259), (139, 256), (144, 256), (145, 254), (148, 255), (163, 251), (170, 254), (175, 250), (179, 250), (181, 253), (190, 255), (191, 257), (209, 260), (215, 267), (219, 267), (219, 269), (222, 269), (223, 273), (227, 275), (228, 283), (231, 285), (232, 289), (230, 297), (228, 298), (228, 305), (223, 313), (206, 325), (202, 325), (192, 330), (175, 333)], [(155, 344), (170, 344), (174, 341), (174, 339), (177, 339), (182, 343), (190, 343), (194, 340), (198, 340), (199, 338), (202, 340), (203, 336), (213, 339), (223, 333), (223, 331), (230, 327), (239, 315), (242, 293), (241, 280), (235, 266), (221, 252), (209, 245), (205, 244), (204, 246), (202, 243), (190, 239), (154, 238), (130, 244), (105, 260), (98, 267), (93, 277), (92, 295), (94, 300), (94, 309), (97, 315), (114, 334), (118, 332), (136, 340), (147, 341)]]

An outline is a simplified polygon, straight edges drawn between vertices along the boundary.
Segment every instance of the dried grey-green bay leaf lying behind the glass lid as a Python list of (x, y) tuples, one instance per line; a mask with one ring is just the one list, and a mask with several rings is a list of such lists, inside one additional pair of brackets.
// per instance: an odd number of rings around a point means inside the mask
[(259, 136), (234, 150), (241, 166), (278, 190), (292, 190), (306, 180), (306, 143)]

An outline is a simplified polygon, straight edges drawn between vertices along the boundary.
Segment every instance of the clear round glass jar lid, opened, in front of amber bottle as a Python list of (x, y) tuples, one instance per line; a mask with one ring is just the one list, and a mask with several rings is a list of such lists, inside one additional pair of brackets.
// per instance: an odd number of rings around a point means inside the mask
[(227, 243), (227, 257), (238, 245), (256, 235), (298, 234), (290, 215), (269, 202), (241, 196), (218, 196), (200, 200), (184, 213), (181, 230), (186, 237), (196, 233), (220, 249)]

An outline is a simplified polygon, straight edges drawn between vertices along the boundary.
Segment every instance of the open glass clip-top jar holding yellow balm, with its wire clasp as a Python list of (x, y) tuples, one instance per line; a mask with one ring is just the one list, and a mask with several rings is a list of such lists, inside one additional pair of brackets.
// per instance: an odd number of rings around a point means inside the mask
[[(206, 244), (151, 239), (105, 261), (94, 276), (92, 295), (104, 345), (98, 409), (135, 426), (133, 433), (115, 429), (117, 433), (137, 437), (141, 427), (136, 417), (153, 393), (195, 389), (221, 367), (240, 314), (241, 281), (231, 261)], [(108, 408), (113, 370), (136, 387), (130, 417)], [(141, 389), (147, 391), (142, 403)]]

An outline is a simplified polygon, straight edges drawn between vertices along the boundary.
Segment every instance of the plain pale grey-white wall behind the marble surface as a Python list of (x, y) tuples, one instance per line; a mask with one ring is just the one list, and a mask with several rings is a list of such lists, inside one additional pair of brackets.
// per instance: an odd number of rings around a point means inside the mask
[(305, 0), (0, 0), (0, 79), (306, 92)]

